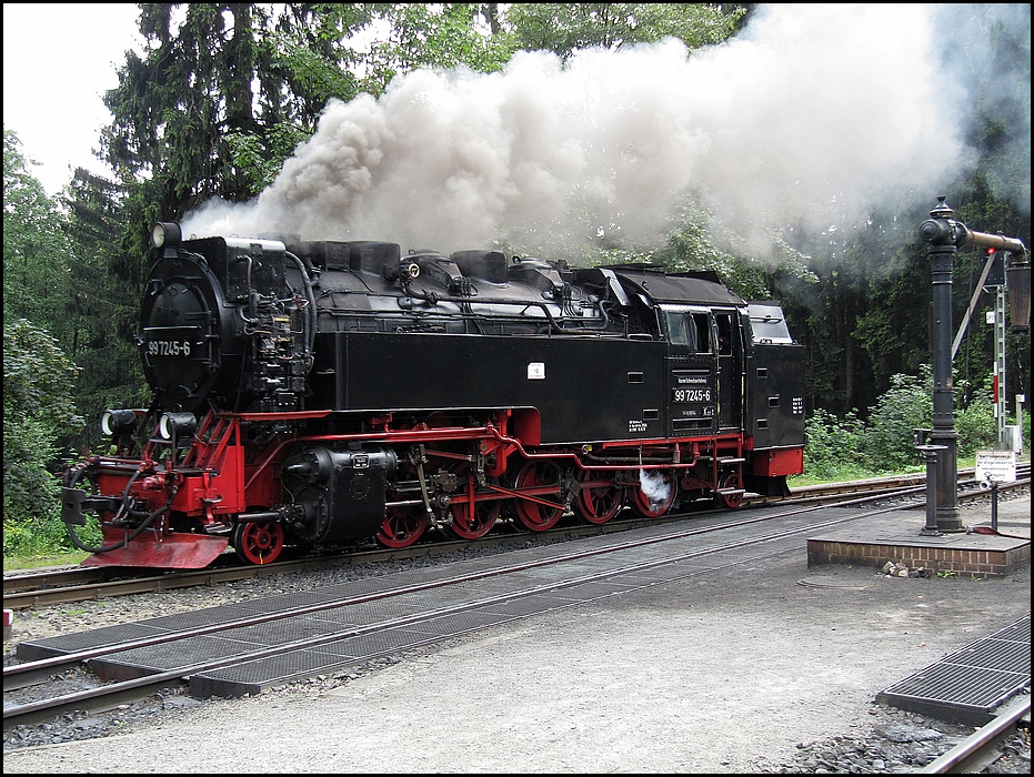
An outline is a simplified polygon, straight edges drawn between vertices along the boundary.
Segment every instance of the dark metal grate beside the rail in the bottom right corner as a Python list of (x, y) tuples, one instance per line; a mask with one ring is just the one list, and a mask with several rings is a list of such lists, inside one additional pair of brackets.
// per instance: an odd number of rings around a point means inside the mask
[(1031, 685), (1031, 616), (977, 639), (876, 696), (876, 702), (983, 726)]

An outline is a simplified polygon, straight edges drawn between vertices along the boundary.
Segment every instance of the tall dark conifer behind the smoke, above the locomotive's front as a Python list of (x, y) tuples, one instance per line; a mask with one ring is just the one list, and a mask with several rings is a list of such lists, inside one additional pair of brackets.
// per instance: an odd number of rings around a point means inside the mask
[(142, 3), (102, 145), (144, 225), (207, 200), (240, 201), (311, 134), (331, 97), (363, 84), (348, 41), (383, 6)]

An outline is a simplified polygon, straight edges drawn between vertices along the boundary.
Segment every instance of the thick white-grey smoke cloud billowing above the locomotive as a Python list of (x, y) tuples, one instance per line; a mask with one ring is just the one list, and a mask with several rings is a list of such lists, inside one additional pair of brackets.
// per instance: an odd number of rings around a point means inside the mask
[[(903, 191), (932, 204), (965, 162), (936, 8), (775, 4), (692, 56), (672, 39), (566, 67), (523, 52), (501, 73), (412, 72), (380, 99), (332, 101), (257, 200), (211, 202), (184, 229), (554, 258), (660, 245), (679, 198), (705, 192), (763, 254), (766, 224), (822, 228)], [(1026, 132), (1028, 149), (1030, 108)]]

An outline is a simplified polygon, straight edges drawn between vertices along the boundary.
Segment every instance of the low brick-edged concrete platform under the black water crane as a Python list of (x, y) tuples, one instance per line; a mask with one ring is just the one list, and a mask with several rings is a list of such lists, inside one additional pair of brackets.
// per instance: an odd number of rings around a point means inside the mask
[(883, 567), (887, 562), (926, 574), (1001, 577), (1031, 563), (1031, 495), (998, 495), (997, 532), (988, 496), (960, 508), (965, 532), (926, 536), (924, 507), (892, 511), (807, 539), (807, 565)]

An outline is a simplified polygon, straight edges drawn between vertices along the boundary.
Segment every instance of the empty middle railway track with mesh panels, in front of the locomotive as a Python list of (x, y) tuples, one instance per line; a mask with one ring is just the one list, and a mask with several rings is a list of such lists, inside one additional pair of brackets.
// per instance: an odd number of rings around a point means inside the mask
[[(911, 488), (911, 486), (899, 488), (897, 495), (906, 495)], [(851, 502), (859, 504), (885, 498), (887, 498), (886, 493), (881, 492), (876, 496), (870, 494), (863, 497), (854, 497)], [(680, 575), (701, 574), (701, 566), (697, 564), (702, 559), (706, 561), (704, 565), (706, 569), (713, 572), (715, 568), (744, 563), (743, 551), (745, 548), (750, 548), (749, 557), (751, 561), (756, 562), (760, 558), (777, 556), (797, 547), (800, 536), (803, 533), (813, 533), (830, 526), (863, 519), (867, 515), (886, 512), (887, 509), (901, 509), (901, 503), (897, 503), (893, 507), (863, 509), (846, 517), (822, 518), (814, 514), (820, 506), (822, 505), (787, 504), (786, 509), (774, 513), (770, 509), (755, 517), (743, 511), (737, 511), (735, 513), (736, 517), (733, 519), (724, 521), (719, 516), (712, 516), (706, 525), (694, 524), (692, 527), (686, 527), (684, 523), (670, 522), (666, 526), (656, 527), (657, 531), (652, 533), (651, 536), (638, 536), (622, 542), (621, 537), (615, 535), (609, 539), (605, 546), (601, 547), (586, 549), (580, 545), (575, 549), (565, 551), (564, 545), (552, 546), (548, 548), (548, 553), (541, 558), (534, 561), (528, 561), (524, 556), (521, 557), (521, 561), (516, 561), (515, 556), (521, 554), (504, 554), (496, 557), (496, 563), (476, 572), (451, 575), (451, 566), (436, 567), (441, 572), (435, 573), (431, 579), (423, 583), (385, 587), (371, 593), (350, 594), (314, 604), (220, 620), (200, 627), (162, 633), (141, 639), (100, 644), (76, 653), (16, 664), (3, 669), (4, 729), (51, 719), (56, 715), (71, 710), (92, 713), (110, 709), (116, 705), (128, 704), (134, 699), (147, 697), (161, 688), (182, 689), (190, 687), (191, 693), (194, 693), (193, 684), (199, 677), (202, 678), (203, 684), (203, 677), (207, 674), (218, 673), (232, 666), (261, 662), (273, 656), (283, 656), (289, 653), (315, 648), (329, 643), (340, 643), (341, 640), (363, 637), (369, 638), (368, 642), (371, 645), (381, 645), (385, 639), (391, 644), (388, 648), (369, 649), (360, 656), (342, 662), (340, 665), (323, 669), (338, 672), (344, 665), (363, 664), (396, 653), (399, 650), (398, 645), (393, 644), (392, 639), (385, 635), (398, 635), (399, 629), (416, 629), (420, 633), (434, 635), (426, 636), (422, 642), (410, 643), (406, 645), (408, 648), (436, 643), (502, 622), (491, 622), (490, 619), (489, 623), (469, 627), (468, 616), (473, 613), (481, 613), (485, 607), (493, 612), (511, 606), (520, 608), (522, 601), (533, 601), (533, 597), (543, 595), (569, 596), (570, 591), (576, 589), (578, 586), (606, 586), (615, 582), (618, 587), (613, 588), (612, 593), (616, 593), (620, 589), (628, 589), (628, 587), (622, 588), (622, 585), (624, 585), (622, 581), (629, 579), (630, 575), (634, 578), (638, 575), (642, 576), (661, 567), (677, 569), (680, 564), (684, 564), (689, 559), (693, 559), (693, 564), (683, 567), (685, 572), (675, 572), (665, 579), (676, 579)], [(729, 515), (729, 513), (724, 514), (724, 516)], [(642, 558), (644, 551), (650, 554), (646, 561)], [(605, 559), (604, 568), (585, 572), (585, 563), (590, 559), (594, 565), (599, 565), (601, 559)], [(538, 575), (531, 583), (528, 579), (529, 571), (535, 571), (535, 575)], [(545, 574), (550, 579), (541, 582), (542, 574)], [(492, 582), (486, 584), (485, 581), (490, 578)], [(468, 586), (464, 589), (465, 584), (473, 582), (476, 582), (476, 586)], [(651, 585), (655, 583), (651, 583)], [(419, 599), (419, 605), (414, 606), (413, 597)], [(431, 597), (431, 604), (426, 602), (428, 597)], [(444, 604), (433, 604), (434, 602)], [(564, 606), (571, 605), (572, 602), (568, 602)], [(321, 633), (292, 642), (278, 643), (229, 657), (212, 658), (205, 656), (203, 660), (185, 660), (182, 665), (163, 672), (144, 674), (131, 679), (99, 683), (94, 687), (72, 694), (58, 694), (40, 699), (39, 689), (33, 688), (33, 698), (36, 700), (22, 704), (17, 698), (17, 692), (21, 688), (46, 684), (56, 676), (60, 676), (61, 673), (82, 665), (103, 667), (108, 662), (114, 660), (112, 659), (114, 654), (127, 650), (137, 650), (153, 645), (168, 645), (170, 643), (188, 645), (189, 642), (185, 640), (232, 632), (233, 629), (254, 628), (260, 624), (274, 624), (291, 618), (303, 618), (315, 613), (331, 610), (338, 613), (344, 608), (351, 608), (349, 613), (363, 612), (364, 608), (369, 609), (371, 607), (379, 614), (384, 612), (399, 614), (393, 617), (373, 617), (360, 625), (352, 625), (329, 634)], [(528, 614), (532, 613), (525, 613), (525, 615)], [(458, 625), (450, 629), (443, 629), (441, 624), (446, 620), (451, 622), (450, 619), (455, 619)], [(438, 625), (432, 626), (431, 624)], [(183, 656), (191, 654), (189, 649), (181, 650), (180, 648), (177, 648), (174, 653), (178, 657), (181, 653)], [(110, 674), (110, 668), (108, 672)], [(103, 676), (103, 672), (101, 674)], [(8, 702), (9, 694), (12, 699), (10, 703)], [(210, 694), (204, 693), (202, 695)]]

